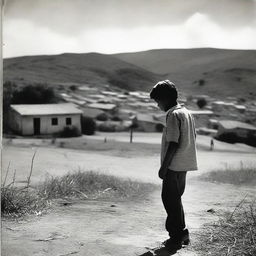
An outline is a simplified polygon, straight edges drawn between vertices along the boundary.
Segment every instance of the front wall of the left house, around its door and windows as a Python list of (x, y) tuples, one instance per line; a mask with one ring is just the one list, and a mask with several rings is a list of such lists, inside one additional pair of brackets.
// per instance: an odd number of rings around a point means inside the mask
[[(70, 117), (71, 125), (66, 125), (66, 118)], [(61, 132), (65, 127), (77, 127), (81, 132), (80, 114), (76, 115), (48, 115), (48, 116), (23, 116), (22, 117), (22, 135), (34, 134), (34, 118), (40, 118), (40, 134), (54, 134)], [(52, 125), (52, 118), (58, 118), (58, 125)]]

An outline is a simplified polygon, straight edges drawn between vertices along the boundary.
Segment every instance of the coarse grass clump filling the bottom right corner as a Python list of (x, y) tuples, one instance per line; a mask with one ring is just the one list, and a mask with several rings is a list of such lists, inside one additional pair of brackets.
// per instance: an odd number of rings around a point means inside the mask
[(256, 205), (241, 201), (216, 223), (204, 225), (194, 247), (199, 255), (256, 255)]

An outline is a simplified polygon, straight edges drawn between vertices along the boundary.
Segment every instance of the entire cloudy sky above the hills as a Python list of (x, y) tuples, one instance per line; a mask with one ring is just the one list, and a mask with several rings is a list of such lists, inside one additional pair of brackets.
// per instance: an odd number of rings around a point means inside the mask
[(3, 55), (256, 49), (256, 0), (5, 0)]

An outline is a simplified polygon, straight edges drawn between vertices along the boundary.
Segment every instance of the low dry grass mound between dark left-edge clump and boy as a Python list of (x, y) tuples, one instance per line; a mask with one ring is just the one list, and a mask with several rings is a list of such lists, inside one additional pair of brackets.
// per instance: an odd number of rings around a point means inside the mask
[(77, 171), (62, 177), (48, 177), (38, 186), (39, 194), (46, 199), (78, 197), (140, 198), (152, 192), (156, 185), (130, 179), (117, 178), (93, 171)]

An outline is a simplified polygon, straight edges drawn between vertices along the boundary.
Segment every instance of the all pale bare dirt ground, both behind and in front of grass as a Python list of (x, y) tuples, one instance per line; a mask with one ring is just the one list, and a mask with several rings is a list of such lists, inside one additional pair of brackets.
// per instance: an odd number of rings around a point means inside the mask
[[(238, 146), (228, 150), (219, 144), (219, 150), (209, 151), (208, 142), (202, 138), (198, 158), (200, 171), (188, 175), (184, 194), (184, 207), (192, 241), (196, 232), (202, 231), (206, 222), (217, 220), (218, 211), (234, 209), (245, 195), (255, 196), (255, 189), (218, 185), (199, 181), (197, 176), (226, 165), (255, 165), (254, 150)], [(229, 146), (228, 146), (229, 147)], [(26, 179), (35, 150), (31, 141), (23, 145), (7, 145), (3, 150), (3, 173), (9, 161), (10, 177), (16, 169), (16, 179)], [(118, 149), (119, 150), (119, 149)], [(112, 151), (111, 151), (112, 152)], [(98, 170), (121, 177), (160, 184), (156, 175), (159, 155), (140, 154), (124, 157), (111, 152), (49, 148), (40, 145), (34, 162), (32, 182), (44, 180), (46, 173), (63, 175), (68, 171)], [(154, 152), (153, 152), (154, 153)], [(193, 177), (193, 179), (191, 179)], [(214, 213), (207, 210), (213, 209)], [(160, 191), (140, 202), (82, 201), (69, 206), (57, 204), (48, 214), (30, 217), (15, 222), (2, 223), (2, 255), (83, 255), (83, 256), (130, 256), (146, 252), (165, 240), (165, 212), (160, 200)], [(192, 246), (177, 253), (180, 256), (195, 256)]]

